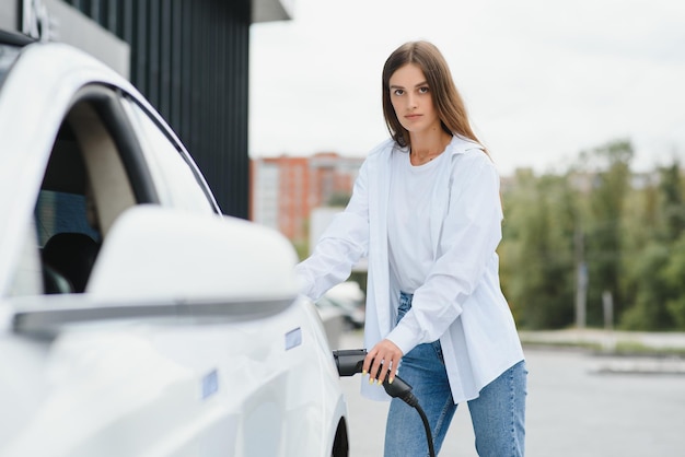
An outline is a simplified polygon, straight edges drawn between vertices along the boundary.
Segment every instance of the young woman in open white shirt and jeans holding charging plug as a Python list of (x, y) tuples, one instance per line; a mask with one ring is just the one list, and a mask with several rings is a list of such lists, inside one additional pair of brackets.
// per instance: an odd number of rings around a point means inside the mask
[[(379, 385), (400, 373), (436, 452), (467, 402), (478, 455), (522, 456), (527, 371), (499, 285), (499, 176), (438, 48), (400, 46), (382, 80), (392, 138), (369, 154), (346, 210), (297, 267), (303, 293), (318, 298), (368, 256), (363, 370), (372, 375), (362, 391), (387, 398)], [(419, 414), (393, 399), (385, 455), (427, 454)]]

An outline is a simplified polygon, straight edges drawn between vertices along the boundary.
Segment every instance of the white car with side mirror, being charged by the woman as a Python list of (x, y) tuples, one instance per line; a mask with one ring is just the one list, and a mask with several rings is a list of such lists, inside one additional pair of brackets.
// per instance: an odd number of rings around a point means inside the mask
[(346, 456), (291, 245), (125, 79), (0, 33), (0, 455)]

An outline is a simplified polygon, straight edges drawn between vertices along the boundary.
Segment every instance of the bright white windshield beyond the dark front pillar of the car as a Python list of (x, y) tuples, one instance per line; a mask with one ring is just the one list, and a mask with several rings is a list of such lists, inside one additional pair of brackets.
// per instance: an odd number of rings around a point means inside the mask
[(160, 194), (162, 204), (191, 212), (217, 212), (213, 197), (195, 165), (136, 103), (124, 99), (133, 128), (142, 138), (143, 153)]

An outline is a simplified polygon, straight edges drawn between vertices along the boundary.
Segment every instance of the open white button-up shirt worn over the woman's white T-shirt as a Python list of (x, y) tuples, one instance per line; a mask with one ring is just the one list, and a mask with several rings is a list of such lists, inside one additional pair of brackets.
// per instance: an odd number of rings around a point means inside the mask
[[(391, 303), (399, 288), (390, 274), (387, 211), (392, 154), (398, 153), (406, 151), (393, 140), (371, 151), (349, 204), (297, 273), (303, 293), (317, 300), (368, 256), (364, 345), (371, 349), (387, 338), (406, 354), (440, 339), (452, 398), (458, 403), (478, 397), (483, 387), (524, 358), (499, 284), (499, 176), (479, 144), (453, 137), (444, 152), (450, 166), (442, 167), (433, 183), (427, 221), (436, 262), (414, 291), (411, 309), (395, 326)], [(362, 383), (362, 392), (387, 398), (382, 387), (368, 383)]]

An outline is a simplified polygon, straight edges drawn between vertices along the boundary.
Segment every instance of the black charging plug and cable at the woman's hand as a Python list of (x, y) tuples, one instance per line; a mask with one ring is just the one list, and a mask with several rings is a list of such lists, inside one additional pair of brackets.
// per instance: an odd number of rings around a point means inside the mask
[[(365, 349), (339, 349), (333, 351), (333, 358), (335, 359), (336, 366), (338, 367), (338, 374), (340, 376), (353, 376), (357, 373), (361, 373), (361, 368), (367, 358)], [(411, 394), (411, 386), (405, 383), (399, 376), (395, 376), (393, 384), (390, 384), (387, 376), (383, 380), (383, 388), (385, 392), (393, 398), (399, 398), (411, 408), (416, 409), (423, 422), (423, 429), (426, 430), (426, 441), (428, 442), (428, 454), (430, 457), (436, 456), (436, 449), (433, 448), (433, 436), (430, 432), (430, 425), (426, 412), (419, 405), (419, 400), (414, 394)]]

